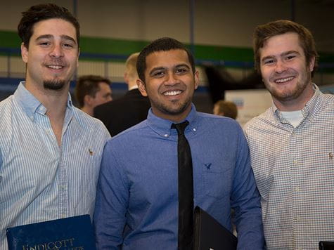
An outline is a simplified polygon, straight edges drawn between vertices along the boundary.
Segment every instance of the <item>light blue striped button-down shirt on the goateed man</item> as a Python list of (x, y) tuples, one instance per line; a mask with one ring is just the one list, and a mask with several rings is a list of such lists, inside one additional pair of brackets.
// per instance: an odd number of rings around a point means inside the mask
[(94, 212), (105, 142), (101, 121), (66, 108), (59, 147), (46, 107), (21, 82), (0, 102), (0, 249), (6, 228)]

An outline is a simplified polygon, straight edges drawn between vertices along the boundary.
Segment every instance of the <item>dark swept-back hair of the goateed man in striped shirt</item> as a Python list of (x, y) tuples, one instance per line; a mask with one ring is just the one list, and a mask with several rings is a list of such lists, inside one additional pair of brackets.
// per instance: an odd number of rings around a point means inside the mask
[(29, 48), (29, 41), (32, 37), (34, 24), (43, 20), (60, 18), (72, 23), (77, 32), (77, 44), (79, 46), (80, 25), (67, 8), (56, 4), (38, 4), (31, 6), (27, 11), (23, 11), (22, 18), (18, 24), (18, 35), (25, 47)]

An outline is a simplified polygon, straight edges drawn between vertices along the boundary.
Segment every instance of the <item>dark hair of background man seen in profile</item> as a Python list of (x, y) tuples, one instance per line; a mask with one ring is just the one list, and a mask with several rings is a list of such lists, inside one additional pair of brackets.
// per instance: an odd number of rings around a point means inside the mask
[(108, 85), (111, 84), (111, 81), (108, 78), (92, 74), (79, 77), (77, 84), (75, 85), (75, 98), (77, 99), (80, 108), (84, 107), (84, 97), (86, 95), (94, 98), (96, 93), (100, 91), (100, 86), (98, 85), (101, 82), (105, 82)]

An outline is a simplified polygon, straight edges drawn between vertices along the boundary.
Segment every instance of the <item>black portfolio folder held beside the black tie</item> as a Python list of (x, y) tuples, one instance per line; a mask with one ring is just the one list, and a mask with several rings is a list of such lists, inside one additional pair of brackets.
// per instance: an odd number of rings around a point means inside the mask
[(199, 206), (194, 212), (194, 250), (236, 250), (237, 237)]

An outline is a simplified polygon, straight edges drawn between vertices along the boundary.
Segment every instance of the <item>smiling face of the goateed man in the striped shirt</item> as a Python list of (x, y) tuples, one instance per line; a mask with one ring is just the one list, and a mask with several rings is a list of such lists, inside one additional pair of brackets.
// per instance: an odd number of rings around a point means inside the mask
[(69, 86), (78, 64), (75, 27), (63, 19), (48, 19), (33, 27), (29, 49), (22, 44), (27, 63), (26, 88), (61, 90)]

